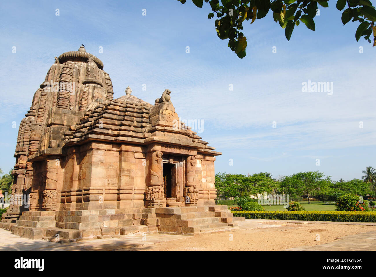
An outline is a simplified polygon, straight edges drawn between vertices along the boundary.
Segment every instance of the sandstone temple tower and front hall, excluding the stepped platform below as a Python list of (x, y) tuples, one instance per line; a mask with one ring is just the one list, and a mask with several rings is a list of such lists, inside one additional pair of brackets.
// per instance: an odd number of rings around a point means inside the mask
[(24, 211), (215, 205), (221, 153), (180, 121), (171, 91), (154, 105), (129, 87), (113, 93), (102, 61), (83, 46), (55, 57), (18, 131), (12, 195), (30, 196), (30, 206), (11, 205), (2, 220)]

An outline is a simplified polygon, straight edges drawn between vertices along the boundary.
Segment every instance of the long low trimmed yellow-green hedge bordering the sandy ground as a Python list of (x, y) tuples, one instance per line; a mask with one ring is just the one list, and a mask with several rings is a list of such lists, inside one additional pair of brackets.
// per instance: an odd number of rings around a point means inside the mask
[(306, 221), (376, 222), (376, 212), (337, 211), (232, 211), (234, 217)]

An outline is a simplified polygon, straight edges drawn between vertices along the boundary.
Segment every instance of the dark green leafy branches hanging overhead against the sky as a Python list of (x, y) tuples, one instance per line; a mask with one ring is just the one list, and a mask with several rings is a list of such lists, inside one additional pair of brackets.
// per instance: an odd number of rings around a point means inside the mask
[[(178, 0), (182, 4), (186, 0)], [(228, 39), (228, 47), (239, 58), (246, 56), (247, 38), (244, 36), (243, 23), (254, 23), (257, 19), (265, 17), (268, 12), (273, 12), (273, 19), (285, 29), (285, 36), (291, 38), (294, 27), (300, 22), (314, 31), (318, 5), (323, 8), (329, 7), (328, 0), (192, 0), (194, 5), (203, 7), (203, 2), (209, 4), (212, 12), (208, 18), (216, 16), (215, 30), (220, 39)], [(359, 27), (355, 32), (355, 39), (364, 37), (373, 46), (376, 45), (376, 10), (369, 0), (338, 0), (337, 9), (343, 11), (341, 20), (345, 25), (350, 20), (359, 21)], [(345, 9), (345, 7), (347, 8)], [(373, 32), (373, 36), (371, 37)], [(371, 39), (370, 39), (371, 38)]]

